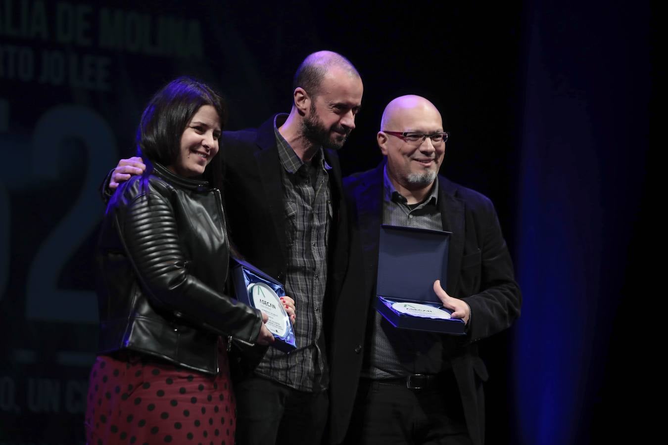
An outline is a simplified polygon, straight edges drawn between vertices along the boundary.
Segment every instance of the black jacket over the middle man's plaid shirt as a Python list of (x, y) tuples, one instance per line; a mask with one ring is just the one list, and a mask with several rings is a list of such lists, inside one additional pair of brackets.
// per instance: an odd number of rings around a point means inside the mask
[[(224, 131), (220, 152), (224, 164), (224, 205), (230, 239), (238, 252), (263, 272), (285, 283), (288, 247), (281, 161), (271, 117), (257, 129)], [(325, 149), (333, 207), (328, 243), (328, 277), (325, 294), (325, 336), (329, 341), (331, 314), (339, 296), (347, 264), (347, 215), (343, 204), (341, 166), (334, 150)], [(296, 308), (299, 313), (299, 308)], [(242, 372), (250, 372), (266, 348), (246, 353)]]

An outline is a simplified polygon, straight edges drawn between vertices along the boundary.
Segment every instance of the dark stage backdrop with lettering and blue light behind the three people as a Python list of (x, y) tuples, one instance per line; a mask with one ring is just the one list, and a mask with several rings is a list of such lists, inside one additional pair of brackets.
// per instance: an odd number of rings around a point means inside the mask
[(150, 95), (193, 75), (226, 97), (228, 129), (257, 126), (289, 111), (292, 75), (320, 49), (365, 86), (344, 173), (380, 160), (390, 99), (424, 95), (452, 133), (442, 173), (496, 204), (524, 306), (483, 342), (487, 442), (642, 441), (637, 394), (660, 380), (644, 346), (653, 25), (631, 1), (0, 0), (0, 444), (83, 442), (96, 189), (134, 153)]

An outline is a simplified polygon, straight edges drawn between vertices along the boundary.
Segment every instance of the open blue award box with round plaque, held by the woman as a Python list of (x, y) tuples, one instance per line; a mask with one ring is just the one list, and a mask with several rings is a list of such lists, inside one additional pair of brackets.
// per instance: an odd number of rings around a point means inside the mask
[(295, 330), (281, 302), (283, 285), (252, 264), (234, 257), (230, 260), (236, 299), (267, 314), (266, 326), (275, 339), (271, 346), (283, 352), (295, 350)]

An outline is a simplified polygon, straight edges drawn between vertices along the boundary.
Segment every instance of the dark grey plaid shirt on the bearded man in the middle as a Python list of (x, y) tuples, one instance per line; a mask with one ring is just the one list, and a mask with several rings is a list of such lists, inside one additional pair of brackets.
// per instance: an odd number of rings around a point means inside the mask
[(269, 348), (257, 374), (307, 392), (325, 390), (329, 369), (323, 336), (323, 298), (327, 286), (327, 240), (331, 224), (329, 174), (321, 148), (304, 163), (283, 139), (274, 121), (281, 159), (286, 239), (289, 250), (285, 293), (295, 300), (297, 350), (285, 354)]

